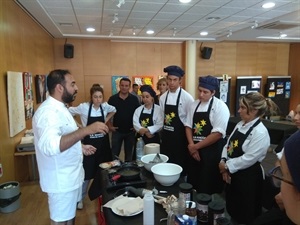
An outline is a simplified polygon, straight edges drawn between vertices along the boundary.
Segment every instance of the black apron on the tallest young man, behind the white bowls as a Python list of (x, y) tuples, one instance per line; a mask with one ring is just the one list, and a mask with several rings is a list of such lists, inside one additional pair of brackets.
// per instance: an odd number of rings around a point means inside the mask
[(170, 163), (180, 165), (186, 173), (186, 160), (188, 156), (185, 126), (178, 114), (181, 88), (177, 97), (176, 105), (167, 105), (169, 91), (165, 100), (165, 119), (161, 138), (161, 153), (169, 157)]

